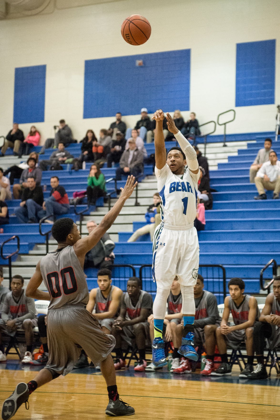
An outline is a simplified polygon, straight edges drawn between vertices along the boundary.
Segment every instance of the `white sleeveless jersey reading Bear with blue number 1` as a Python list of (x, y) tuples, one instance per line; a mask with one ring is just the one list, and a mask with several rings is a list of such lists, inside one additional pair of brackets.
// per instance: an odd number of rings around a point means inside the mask
[(168, 226), (187, 226), (196, 218), (198, 179), (187, 168), (184, 175), (175, 175), (169, 166), (155, 168), (161, 197), (161, 220)]

